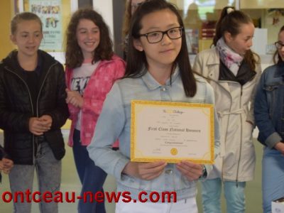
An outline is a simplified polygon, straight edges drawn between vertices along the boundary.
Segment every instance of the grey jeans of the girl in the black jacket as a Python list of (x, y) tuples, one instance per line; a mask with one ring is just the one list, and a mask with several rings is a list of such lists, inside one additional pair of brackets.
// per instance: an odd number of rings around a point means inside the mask
[[(35, 156), (35, 165), (14, 165), (9, 173), (11, 192), (33, 192), (34, 171), (38, 175), (38, 187), (41, 194), (44, 192), (57, 192), (60, 190), (61, 181), (61, 160), (56, 160), (53, 151), (47, 142), (40, 143)], [(54, 197), (55, 195), (53, 195)], [(29, 196), (31, 199), (31, 195)], [(26, 200), (26, 196), (24, 196)], [(35, 196), (38, 200), (39, 196)], [(50, 199), (49, 199), (50, 200)], [(39, 202), (40, 212), (56, 213), (58, 212), (58, 202)], [(18, 196), (18, 202), (13, 202), (13, 212), (30, 213), (31, 202), (21, 202)]]

